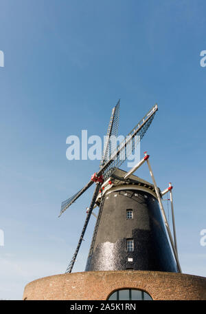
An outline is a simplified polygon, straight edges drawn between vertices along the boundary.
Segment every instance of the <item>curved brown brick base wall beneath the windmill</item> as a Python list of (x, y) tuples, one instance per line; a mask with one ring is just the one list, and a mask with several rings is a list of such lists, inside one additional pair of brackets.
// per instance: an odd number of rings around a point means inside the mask
[(87, 271), (52, 275), (25, 286), (23, 300), (107, 300), (118, 289), (140, 289), (153, 300), (206, 300), (206, 278), (161, 271)]

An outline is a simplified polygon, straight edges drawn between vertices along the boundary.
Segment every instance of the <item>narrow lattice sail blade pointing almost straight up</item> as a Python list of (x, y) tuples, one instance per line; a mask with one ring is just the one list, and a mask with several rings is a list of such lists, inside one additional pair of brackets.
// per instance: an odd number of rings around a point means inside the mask
[(119, 105), (120, 105), (120, 99), (117, 102), (117, 105), (113, 107), (111, 118), (108, 123), (108, 129), (106, 133), (106, 141), (104, 145), (104, 151), (102, 154), (102, 160), (100, 162), (100, 167), (103, 167), (104, 163), (108, 161), (111, 158), (111, 153), (115, 147), (112, 147), (111, 144), (111, 136), (117, 136), (118, 134), (118, 127), (119, 127)]

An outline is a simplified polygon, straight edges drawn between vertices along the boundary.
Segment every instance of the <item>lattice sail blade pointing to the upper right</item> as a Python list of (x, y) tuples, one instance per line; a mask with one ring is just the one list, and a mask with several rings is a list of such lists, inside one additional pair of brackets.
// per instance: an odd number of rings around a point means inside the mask
[(111, 175), (113, 168), (119, 168), (126, 158), (133, 153), (137, 147), (138, 140), (141, 140), (146, 134), (148, 127), (152, 123), (153, 118), (158, 110), (157, 104), (153, 106), (144, 118), (137, 123), (132, 131), (126, 136), (125, 140), (117, 147), (116, 151), (111, 156), (106, 164), (101, 169), (104, 180)]

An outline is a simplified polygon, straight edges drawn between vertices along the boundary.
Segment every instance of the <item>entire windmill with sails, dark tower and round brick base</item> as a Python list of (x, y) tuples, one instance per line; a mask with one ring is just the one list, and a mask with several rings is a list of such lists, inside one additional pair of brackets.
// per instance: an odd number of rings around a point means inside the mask
[[(108, 124), (100, 169), (74, 196), (62, 202), (60, 216), (95, 185), (76, 251), (65, 274), (25, 287), (29, 300), (205, 300), (205, 278), (181, 272), (177, 253), (172, 185), (157, 187), (147, 152), (133, 169), (119, 167), (133, 153), (157, 113), (153, 106), (118, 147), (119, 101)], [(144, 164), (152, 183), (134, 175)], [(163, 208), (170, 194), (172, 227)], [(72, 273), (93, 209), (99, 207), (86, 269)], [(95, 216), (95, 214), (94, 214)], [(172, 234), (173, 233), (173, 234)], [(48, 288), (49, 287), (49, 288)], [(44, 292), (43, 292), (44, 291)]]

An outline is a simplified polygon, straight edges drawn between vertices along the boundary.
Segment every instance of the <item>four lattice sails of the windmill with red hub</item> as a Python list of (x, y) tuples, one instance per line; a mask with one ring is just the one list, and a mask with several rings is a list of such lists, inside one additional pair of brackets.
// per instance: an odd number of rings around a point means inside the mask
[[(76, 248), (75, 253), (73, 254), (73, 258), (71, 259), (71, 262), (69, 263), (69, 266), (67, 267), (66, 273), (71, 273), (73, 269), (73, 264), (76, 261), (76, 257), (78, 255), (78, 251), (80, 249), (80, 245), (82, 243), (82, 240), (84, 238), (84, 233), (87, 229), (87, 225), (89, 223), (89, 219), (91, 217), (91, 213), (93, 211), (93, 207), (95, 206), (95, 201), (97, 199), (98, 193), (100, 192), (100, 187), (102, 184), (106, 181), (106, 179), (113, 174), (115, 169), (119, 168), (122, 163), (124, 163), (124, 160), (128, 157), (129, 154), (132, 154), (135, 150), (135, 147), (137, 146), (138, 140), (141, 140), (146, 134), (148, 127), (150, 127), (150, 124), (152, 123), (153, 118), (155, 117), (155, 114), (158, 110), (157, 104), (154, 105), (148, 113), (144, 116), (144, 118), (135, 125), (135, 127), (132, 129), (132, 131), (126, 136), (125, 140), (120, 143), (120, 145), (116, 148), (113, 147), (111, 143), (112, 136), (117, 136), (118, 132), (118, 125), (119, 125), (119, 104), (120, 100), (117, 102), (117, 105), (112, 109), (111, 118), (108, 124), (108, 130), (106, 134), (106, 143), (104, 146), (104, 152), (102, 154), (102, 160), (100, 162), (100, 169), (91, 176), (91, 180), (85, 185), (80, 191), (78, 191), (75, 195), (73, 195), (71, 198), (68, 198), (64, 202), (62, 202), (60, 215), (66, 209), (68, 209), (73, 202), (75, 202), (84, 192), (95, 183), (95, 191), (93, 192), (93, 196), (91, 199), (91, 204), (89, 206), (89, 209), (87, 211), (87, 217), (84, 222), (84, 227), (82, 229), (82, 233), (80, 235), (80, 239), (78, 241), (78, 246)], [(124, 156), (124, 158), (122, 158)]]

